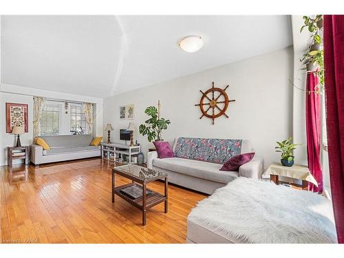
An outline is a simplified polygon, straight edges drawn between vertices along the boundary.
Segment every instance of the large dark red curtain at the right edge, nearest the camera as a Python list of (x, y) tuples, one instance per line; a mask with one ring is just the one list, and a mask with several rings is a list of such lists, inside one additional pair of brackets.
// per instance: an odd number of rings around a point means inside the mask
[(344, 16), (324, 16), (325, 96), (330, 182), (338, 243), (344, 243)]

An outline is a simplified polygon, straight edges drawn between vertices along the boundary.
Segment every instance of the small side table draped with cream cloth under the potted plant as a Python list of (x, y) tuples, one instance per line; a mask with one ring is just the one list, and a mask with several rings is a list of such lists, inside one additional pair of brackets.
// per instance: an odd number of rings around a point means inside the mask
[(308, 190), (308, 182), (318, 186), (313, 175), (310, 173), (310, 170), (307, 166), (301, 166), (294, 164), (293, 166), (282, 166), (278, 163), (271, 164), (268, 169), (263, 174), (263, 178), (268, 178), (270, 175), (270, 181), (279, 184), (279, 175), (287, 178), (295, 178), (302, 180), (302, 189)]

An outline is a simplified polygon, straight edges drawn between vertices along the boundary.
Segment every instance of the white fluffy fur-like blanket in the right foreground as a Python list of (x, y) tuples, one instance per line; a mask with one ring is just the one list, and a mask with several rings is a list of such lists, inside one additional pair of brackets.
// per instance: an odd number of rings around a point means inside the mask
[(336, 243), (332, 204), (310, 191), (237, 178), (188, 219), (248, 243)]

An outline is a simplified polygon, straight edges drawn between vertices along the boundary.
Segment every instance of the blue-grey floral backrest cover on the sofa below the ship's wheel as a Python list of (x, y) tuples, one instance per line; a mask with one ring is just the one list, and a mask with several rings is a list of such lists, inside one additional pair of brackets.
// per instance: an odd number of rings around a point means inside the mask
[(241, 153), (241, 140), (180, 137), (175, 145), (175, 157), (208, 162), (226, 162)]

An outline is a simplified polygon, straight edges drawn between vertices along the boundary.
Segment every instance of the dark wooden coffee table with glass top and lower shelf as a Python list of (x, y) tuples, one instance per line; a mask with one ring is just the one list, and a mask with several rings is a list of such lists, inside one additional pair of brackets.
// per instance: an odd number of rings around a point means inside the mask
[[(115, 175), (122, 175), (124, 178), (131, 180), (130, 184), (115, 186)], [(147, 184), (155, 180), (164, 180), (164, 195), (147, 189)], [(165, 173), (147, 169), (136, 164), (127, 164), (123, 166), (115, 166), (112, 169), (112, 202), (115, 202), (115, 195), (120, 196), (136, 208), (142, 211), (142, 225), (146, 225), (146, 213), (149, 208), (164, 202), (164, 212), (167, 213), (167, 192), (168, 180)], [(141, 186), (142, 185), (142, 186)], [(142, 191), (142, 192), (141, 192)]]

